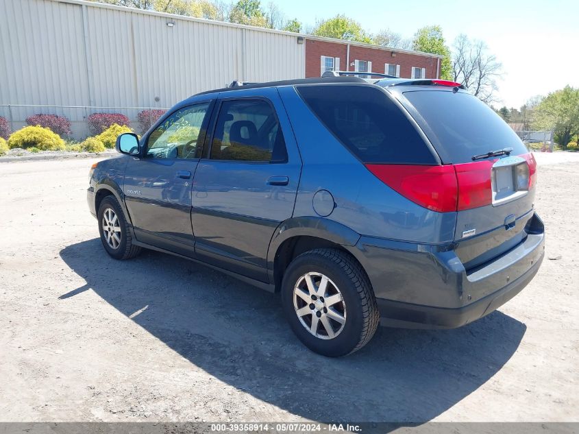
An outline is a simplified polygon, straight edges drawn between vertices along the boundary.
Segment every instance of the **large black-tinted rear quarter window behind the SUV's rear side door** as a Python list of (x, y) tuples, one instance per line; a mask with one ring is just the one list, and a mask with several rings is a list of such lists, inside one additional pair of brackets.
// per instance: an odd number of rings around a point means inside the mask
[(298, 86), (306, 104), (362, 162), (436, 164), (404, 113), (373, 86)]

